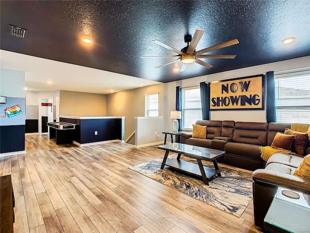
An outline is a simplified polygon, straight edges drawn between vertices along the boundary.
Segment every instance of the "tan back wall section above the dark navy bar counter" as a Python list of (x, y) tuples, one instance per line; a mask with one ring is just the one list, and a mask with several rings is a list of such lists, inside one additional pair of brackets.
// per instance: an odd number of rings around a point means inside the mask
[(106, 116), (107, 95), (60, 91), (60, 116)]

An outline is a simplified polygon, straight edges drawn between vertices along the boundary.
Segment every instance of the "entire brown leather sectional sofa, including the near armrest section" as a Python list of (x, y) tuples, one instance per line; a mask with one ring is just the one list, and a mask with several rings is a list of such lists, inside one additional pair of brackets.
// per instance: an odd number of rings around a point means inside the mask
[[(283, 133), (291, 124), (202, 120), (207, 126), (206, 139), (181, 133), (181, 143), (224, 150), (218, 162), (243, 167), (253, 172), (253, 203), (255, 225), (263, 228), (263, 219), (279, 186), (304, 193), (310, 204), (310, 181), (293, 176), (303, 157), (310, 154), (308, 142), (304, 155), (275, 153), (266, 162), (261, 159), (260, 146), (270, 146), (276, 133)], [(264, 169), (262, 169), (264, 168)]]

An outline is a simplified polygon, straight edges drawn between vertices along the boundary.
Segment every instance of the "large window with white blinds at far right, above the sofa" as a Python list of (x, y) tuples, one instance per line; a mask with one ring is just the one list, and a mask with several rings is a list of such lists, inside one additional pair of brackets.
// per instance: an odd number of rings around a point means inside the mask
[(275, 78), (277, 122), (309, 124), (309, 80), (310, 75)]

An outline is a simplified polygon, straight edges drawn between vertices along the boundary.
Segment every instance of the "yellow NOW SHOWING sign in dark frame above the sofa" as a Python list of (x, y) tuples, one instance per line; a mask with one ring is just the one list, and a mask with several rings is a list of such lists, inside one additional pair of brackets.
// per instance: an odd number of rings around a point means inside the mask
[(210, 84), (210, 110), (263, 110), (263, 75)]

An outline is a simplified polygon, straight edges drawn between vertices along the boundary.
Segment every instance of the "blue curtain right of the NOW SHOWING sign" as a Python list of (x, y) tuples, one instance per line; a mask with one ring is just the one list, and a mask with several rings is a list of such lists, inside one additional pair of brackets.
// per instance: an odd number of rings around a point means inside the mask
[(276, 96), (275, 96), (275, 82), (274, 72), (268, 71), (266, 73), (266, 119), (267, 123), (276, 122)]

